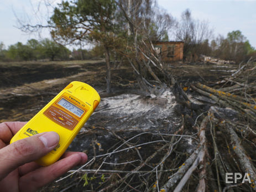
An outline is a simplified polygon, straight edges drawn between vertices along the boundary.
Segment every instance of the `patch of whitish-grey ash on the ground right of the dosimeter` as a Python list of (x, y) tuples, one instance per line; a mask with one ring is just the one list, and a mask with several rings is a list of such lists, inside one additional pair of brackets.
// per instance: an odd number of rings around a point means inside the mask
[(105, 127), (111, 127), (111, 129), (134, 127), (171, 129), (177, 126), (177, 122), (180, 122), (180, 117), (174, 113), (175, 105), (175, 96), (170, 89), (166, 89), (163, 94), (155, 98), (142, 97), (137, 94), (121, 94), (103, 98), (86, 125), (93, 124), (93, 121), (104, 116), (110, 120)]

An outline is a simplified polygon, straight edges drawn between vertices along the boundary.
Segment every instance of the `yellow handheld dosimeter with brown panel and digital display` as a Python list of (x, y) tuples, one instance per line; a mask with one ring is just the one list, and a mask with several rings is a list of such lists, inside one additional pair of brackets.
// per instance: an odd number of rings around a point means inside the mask
[(66, 151), (100, 100), (100, 95), (88, 84), (71, 82), (14, 135), (11, 143), (41, 132), (57, 132), (60, 136), (58, 145), (36, 161), (48, 166)]

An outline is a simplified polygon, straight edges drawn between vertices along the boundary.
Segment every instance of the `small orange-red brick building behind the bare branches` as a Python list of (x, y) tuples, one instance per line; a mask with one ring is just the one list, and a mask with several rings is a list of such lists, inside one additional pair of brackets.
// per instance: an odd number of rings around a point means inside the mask
[(182, 41), (156, 41), (154, 47), (164, 62), (180, 61), (183, 58), (184, 42)]

